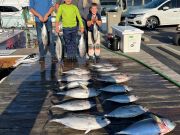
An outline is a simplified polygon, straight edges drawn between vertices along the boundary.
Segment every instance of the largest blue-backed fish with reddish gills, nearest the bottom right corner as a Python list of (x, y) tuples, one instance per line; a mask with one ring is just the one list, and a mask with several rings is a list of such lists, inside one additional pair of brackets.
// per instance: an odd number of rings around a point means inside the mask
[(161, 122), (157, 122), (153, 118), (140, 120), (128, 128), (117, 132), (118, 135), (165, 135), (176, 127), (174, 122), (161, 118)]

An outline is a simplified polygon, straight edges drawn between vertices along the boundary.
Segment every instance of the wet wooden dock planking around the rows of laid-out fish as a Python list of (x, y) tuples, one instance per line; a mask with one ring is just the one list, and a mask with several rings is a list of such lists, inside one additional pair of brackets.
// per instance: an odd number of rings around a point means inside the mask
[[(30, 52), (30, 51), (29, 51)], [(31, 51), (32, 52), (32, 51)], [(180, 134), (180, 89), (158, 74), (143, 67), (142, 65), (125, 57), (115, 55), (102, 49), (100, 62), (112, 63), (119, 67), (119, 72), (128, 73), (133, 78), (127, 83), (134, 90), (131, 94), (140, 97), (136, 104), (147, 107), (150, 112), (167, 117), (176, 122), (177, 126), (169, 135)], [(87, 68), (89, 63), (78, 64), (64, 63), (64, 70), (73, 67)], [(49, 108), (53, 103), (65, 100), (66, 97), (52, 96), (58, 89), (57, 65), (51, 64), (47, 58), (45, 71), (41, 72), (41, 65), (21, 65), (16, 68), (0, 84), (0, 135), (81, 135), (82, 131), (73, 130), (57, 123), (48, 123), (51, 118), (58, 118), (68, 112)], [(99, 88), (105, 84), (94, 82), (93, 87)], [(107, 102), (101, 104), (107, 97), (113, 94), (103, 93), (99, 97), (92, 98), (97, 107), (88, 111), (76, 113), (99, 114), (108, 113), (118, 106)], [(149, 117), (148, 114), (131, 119), (110, 119), (111, 124), (107, 127), (91, 131), (89, 135), (112, 135), (130, 124)]]

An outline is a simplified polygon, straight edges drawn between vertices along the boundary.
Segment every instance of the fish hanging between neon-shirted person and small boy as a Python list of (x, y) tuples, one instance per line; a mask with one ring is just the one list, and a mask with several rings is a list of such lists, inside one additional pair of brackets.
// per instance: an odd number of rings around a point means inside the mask
[(81, 34), (81, 38), (79, 40), (79, 55), (80, 57), (84, 57), (86, 55), (86, 43), (85, 43), (85, 39), (84, 39), (84, 34)]

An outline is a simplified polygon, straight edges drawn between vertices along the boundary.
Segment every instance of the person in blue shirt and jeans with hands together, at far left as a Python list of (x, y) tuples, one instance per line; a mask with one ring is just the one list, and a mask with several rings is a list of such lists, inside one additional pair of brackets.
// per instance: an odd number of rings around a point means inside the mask
[(30, 11), (35, 16), (36, 22), (36, 31), (39, 44), (40, 60), (39, 62), (44, 62), (46, 55), (45, 47), (41, 38), (41, 29), (43, 23), (46, 25), (48, 40), (49, 40), (49, 49), (52, 56), (52, 61), (57, 62), (55, 46), (53, 42), (52, 35), (52, 22), (51, 22), (51, 13), (54, 11), (54, 6), (52, 0), (30, 0)]

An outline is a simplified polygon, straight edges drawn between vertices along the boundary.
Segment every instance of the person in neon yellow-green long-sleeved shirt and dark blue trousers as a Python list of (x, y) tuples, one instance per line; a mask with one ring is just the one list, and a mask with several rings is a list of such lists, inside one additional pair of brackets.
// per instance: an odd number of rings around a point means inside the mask
[[(78, 8), (72, 4), (72, 0), (64, 0), (65, 3), (59, 6), (56, 15), (56, 32), (59, 33), (59, 20), (62, 18), (63, 38), (67, 57), (73, 59), (77, 56), (77, 33), (80, 25), (80, 32), (84, 32), (84, 26)], [(77, 23), (77, 19), (78, 22)]]

